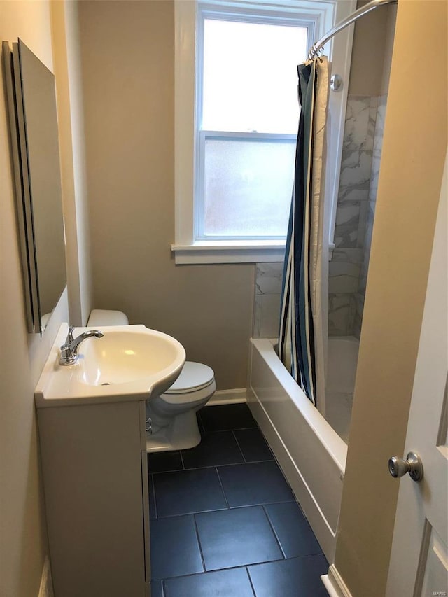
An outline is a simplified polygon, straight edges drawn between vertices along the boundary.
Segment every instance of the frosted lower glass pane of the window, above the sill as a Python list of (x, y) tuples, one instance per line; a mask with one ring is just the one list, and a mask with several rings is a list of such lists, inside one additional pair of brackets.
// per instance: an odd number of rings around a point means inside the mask
[(286, 237), (295, 141), (206, 139), (204, 237)]

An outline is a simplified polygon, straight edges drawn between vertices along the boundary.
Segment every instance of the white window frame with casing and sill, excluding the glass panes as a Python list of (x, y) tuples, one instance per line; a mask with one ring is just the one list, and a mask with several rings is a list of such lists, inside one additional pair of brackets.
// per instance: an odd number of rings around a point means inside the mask
[[(307, 1), (297, 8), (297, 0), (200, 0), (175, 1), (175, 241), (172, 244), (176, 264), (186, 263), (230, 263), (230, 262), (269, 262), (282, 261), (286, 239), (203, 239), (197, 237), (200, 184), (203, 172), (200, 171), (200, 151), (207, 134), (229, 136), (229, 132), (204, 131), (200, 129), (202, 115), (202, 36), (204, 18), (230, 18), (244, 22), (244, 15), (250, 15), (248, 22), (314, 22), (314, 40), (320, 38), (335, 22), (339, 22), (356, 8), (356, 0)], [(255, 15), (255, 16), (254, 16)], [(337, 72), (344, 80), (342, 90), (331, 92), (331, 113), (333, 134), (328, 148), (328, 168), (337, 176), (326, 177), (326, 191), (330, 199), (328, 220), (331, 250), (335, 227), (335, 206), (339, 188), (339, 170), (342, 157), (342, 134), (348, 90), (349, 64), (353, 27), (338, 34), (338, 43), (329, 42), (328, 56), (332, 58)], [(311, 47), (311, 43), (309, 44)], [(335, 123), (337, 126), (335, 126)], [(244, 135), (247, 133), (237, 133)], [(249, 133), (250, 135), (255, 135)], [(259, 134), (265, 136), (266, 134)], [(274, 134), (279, 138), (281, 135)], [(294, 138), (295, 136), (292, 135)], [(334, 164), (334, 165), (333, 165)], [(326, 239), (325, 239), (326, 241)], [(333, 245), (334, 246), (334, 245)]]

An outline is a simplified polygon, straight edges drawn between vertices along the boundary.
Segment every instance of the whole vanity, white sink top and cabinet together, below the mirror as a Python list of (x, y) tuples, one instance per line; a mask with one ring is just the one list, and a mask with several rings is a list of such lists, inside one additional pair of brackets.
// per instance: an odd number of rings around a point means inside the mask
[(78, 328), (64, 366), (68, 329), (34, 392), (55, 597), (149, 597), (145, 405), (179, 376), (185, 350), (144, 325), (99, 338)]

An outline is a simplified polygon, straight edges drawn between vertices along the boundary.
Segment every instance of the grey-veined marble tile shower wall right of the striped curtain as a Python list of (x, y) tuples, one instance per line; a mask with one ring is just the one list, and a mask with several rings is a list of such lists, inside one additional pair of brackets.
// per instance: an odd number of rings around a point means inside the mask
[(360, 337), (386, 96), (349, 96), (329, 265), (328, 332)]

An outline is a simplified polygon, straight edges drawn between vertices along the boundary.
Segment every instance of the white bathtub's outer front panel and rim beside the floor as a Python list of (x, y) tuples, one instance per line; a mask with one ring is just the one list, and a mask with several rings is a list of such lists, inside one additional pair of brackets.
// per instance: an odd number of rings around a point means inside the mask
[(250, 350), (248, 406), (333, 563), (346, 444), (295, 384), (271, 340), (251, 339)]

